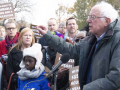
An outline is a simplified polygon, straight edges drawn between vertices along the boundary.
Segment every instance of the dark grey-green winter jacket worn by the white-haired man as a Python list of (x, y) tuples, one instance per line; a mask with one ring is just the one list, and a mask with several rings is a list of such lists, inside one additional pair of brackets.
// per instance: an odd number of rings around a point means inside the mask
[(90, 35), (77, 44), (67, 43), (49, 31), (43, 37), (54, 50), (61, 54), (69, 53), (71, 59), (79, 60), (81, 90), (118, 90), (120, 88), (120, 18), (109, 25), (104, 38), (99, 42), (93, 54), (92, 82), (86, 85), (83, 80), (84, 66), (95, 36)]

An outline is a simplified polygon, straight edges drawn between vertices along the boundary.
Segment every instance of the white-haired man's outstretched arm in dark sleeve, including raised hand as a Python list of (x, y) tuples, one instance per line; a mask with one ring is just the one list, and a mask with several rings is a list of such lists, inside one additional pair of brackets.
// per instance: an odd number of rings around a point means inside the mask
[(79, 57), (80, 45), (65, 42), (64, 39), (53, 35), (45, 26), (37, 26), (39, 33), (43, 35), (48, 46), (52, 47), (55, 51), (64, 54), (68, 53), (71, 59)]

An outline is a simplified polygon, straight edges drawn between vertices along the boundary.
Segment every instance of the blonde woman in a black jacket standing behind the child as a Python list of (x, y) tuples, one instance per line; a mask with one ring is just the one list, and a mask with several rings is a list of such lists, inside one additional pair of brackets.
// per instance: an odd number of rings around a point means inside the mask
[(6, 68), (8, 78), (14, 73), (11, 79), (10, 90), (15, 90), (15, 86), (17, 86), (18, 75), (16, 72), (20, 70), (19, 64), (23, 58), (23, 50), (29, 48), (34, 43), (35, 39), (33, 31), (29, 28), (24, 28), (20, 33), (18, 43), (10, 50)]

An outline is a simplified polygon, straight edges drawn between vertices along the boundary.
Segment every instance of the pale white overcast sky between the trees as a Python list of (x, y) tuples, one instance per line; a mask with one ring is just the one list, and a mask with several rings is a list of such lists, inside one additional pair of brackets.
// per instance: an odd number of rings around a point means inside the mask
[[(25, 16), (28, 22), (35, 25), (47, 25), (49, 18), (56, 18), (55, 10), (58, 9), (58, 4), (63, 4), (67, 7), (73, 6), (76, 0), (32, 0), (37, 2), (35, 9), (33, 10), (34, 16), (31, 17), (30, 14), (21, 13), (17, 16)], [(30, 19), (32, 18), (32, 20)]]

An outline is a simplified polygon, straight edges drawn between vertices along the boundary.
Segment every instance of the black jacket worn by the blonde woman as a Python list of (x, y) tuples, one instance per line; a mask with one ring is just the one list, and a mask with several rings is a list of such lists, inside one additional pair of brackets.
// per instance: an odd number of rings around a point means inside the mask
[(14, 87), (14, 85), (17, 85), (18, 75), (16, 74), (16, 72), (20, 70), (19, 64), (22, 58), (23, 58), (23, 52), (17, 50), (16, 47), (14, 47), (8, 54), (8, 60), (6, 65), (8, 78), (10, 78), (12, 73), (15, 73), (11, 79), (10, 90), (14, 90), (12, 87)]

